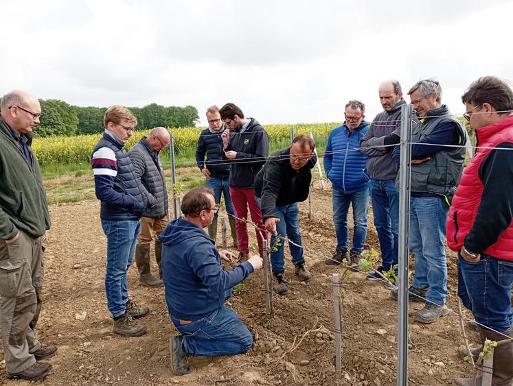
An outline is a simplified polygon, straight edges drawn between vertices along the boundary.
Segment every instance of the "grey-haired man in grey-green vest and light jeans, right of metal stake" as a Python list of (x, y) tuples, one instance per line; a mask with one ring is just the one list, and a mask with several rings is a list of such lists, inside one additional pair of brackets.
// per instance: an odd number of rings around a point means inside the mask
[[(442, 104), (442, 87), (420, 80), (409, 90), (418, 123), (411, 131), (410, 251), (415, 255), (409, 301), (424, 302), (413, 314), (420, 323), (447, 315), (447, 263), (444, 239), (451, 199), (465, 160), (467, 134), (461, 122)], [(392, 158), (399, 163), (399, 147)], [(398, 298), (397, 289), (391, 291)]]

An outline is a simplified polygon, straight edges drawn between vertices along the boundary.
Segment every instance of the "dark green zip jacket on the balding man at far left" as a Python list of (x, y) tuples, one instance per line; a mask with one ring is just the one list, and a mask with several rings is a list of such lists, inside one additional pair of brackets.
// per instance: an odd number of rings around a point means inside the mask
[(0, 239), (8, 240), (22, 230), (30, 237), (43, 236), (50, 228), (45, 188), (30, 136), (27, 145), (32, 169), (12, 132), (0, 117)]

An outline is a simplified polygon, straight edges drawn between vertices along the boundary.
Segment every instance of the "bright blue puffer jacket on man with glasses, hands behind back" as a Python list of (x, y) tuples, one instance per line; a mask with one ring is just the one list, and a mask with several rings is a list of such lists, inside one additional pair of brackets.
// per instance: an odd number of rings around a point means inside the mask
[(360, 141), (369, 130), (369, 122), (362, 123), (353, 132), (345, 123), (334, 128), (328, 136), (324, 154), (324, 170), (333, 187), (345, 194), (368, 189), (370, 176), (365, 169), (367, 156), (360, 152)]

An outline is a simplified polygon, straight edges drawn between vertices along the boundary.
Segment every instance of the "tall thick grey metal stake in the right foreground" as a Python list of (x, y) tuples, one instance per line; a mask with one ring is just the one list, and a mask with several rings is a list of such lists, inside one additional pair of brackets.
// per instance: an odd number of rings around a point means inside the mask
[(411, 176), (411, 104), (401, 108), (399, 169), (399, 315), (397, 384), (408, 384), (408, 258)]

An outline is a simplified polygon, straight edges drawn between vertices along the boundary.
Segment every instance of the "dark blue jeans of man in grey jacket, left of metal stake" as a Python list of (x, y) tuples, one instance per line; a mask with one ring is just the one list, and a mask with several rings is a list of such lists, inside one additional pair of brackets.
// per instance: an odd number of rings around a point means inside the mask
[(371, 180), (370, 190), (381, 260), (388, 270), (398, 263), (399, 190), (395, 180)]

